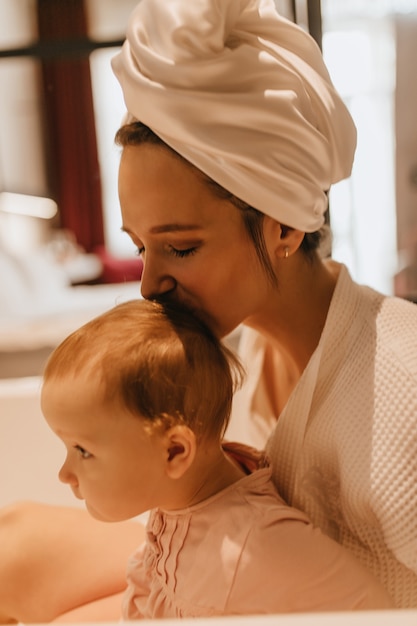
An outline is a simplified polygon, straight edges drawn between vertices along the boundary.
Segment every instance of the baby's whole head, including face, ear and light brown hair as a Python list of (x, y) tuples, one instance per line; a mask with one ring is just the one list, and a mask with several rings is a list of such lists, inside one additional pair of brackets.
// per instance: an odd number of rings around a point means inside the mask
[(105, 521), (188, 506), (220, 450), (240, 375), (182, 308), (136, 300), (97, 317), (44, 372), (42, 410), (66, 447), (61, 481)]

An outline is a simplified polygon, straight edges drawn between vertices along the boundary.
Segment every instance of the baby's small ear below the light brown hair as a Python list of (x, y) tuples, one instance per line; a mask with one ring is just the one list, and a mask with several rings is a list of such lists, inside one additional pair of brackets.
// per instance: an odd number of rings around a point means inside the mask
[(196, 438), (193, 431), (183, 424), (172, 426), (166, 437), (166, 473), (174, 480), (181, 478), (192, 465), (196, 453)]

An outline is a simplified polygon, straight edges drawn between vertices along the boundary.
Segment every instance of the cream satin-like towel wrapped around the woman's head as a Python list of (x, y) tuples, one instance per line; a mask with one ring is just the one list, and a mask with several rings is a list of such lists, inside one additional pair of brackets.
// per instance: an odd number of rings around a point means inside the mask
[(356, 130), (319, 47), (273, 0), (142, 0), (112, 64), (132, 118), (251, 206), (320, 228)]

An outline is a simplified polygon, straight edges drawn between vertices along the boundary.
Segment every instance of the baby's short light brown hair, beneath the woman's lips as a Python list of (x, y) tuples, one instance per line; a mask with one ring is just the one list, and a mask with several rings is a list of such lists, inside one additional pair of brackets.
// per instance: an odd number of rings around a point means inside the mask
[(224, 434), (243, 370), (186, 308), (132, 300), (94, 318), (51, 354), (44, 383), (78, 376), (98, 379), (102, 398), (120, 401), (149, 424), (184, 423), (203, 439)]

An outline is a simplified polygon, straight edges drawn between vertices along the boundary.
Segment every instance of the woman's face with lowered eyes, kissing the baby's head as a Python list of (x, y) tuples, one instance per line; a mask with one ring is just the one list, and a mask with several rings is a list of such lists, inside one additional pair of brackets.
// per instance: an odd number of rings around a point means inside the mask
[(145, 298), (184, 302), (219, 336), (262, 312), (271, 287), (241, 212), (195, 170), (161, 146), (128, 146), (119, 196)]

